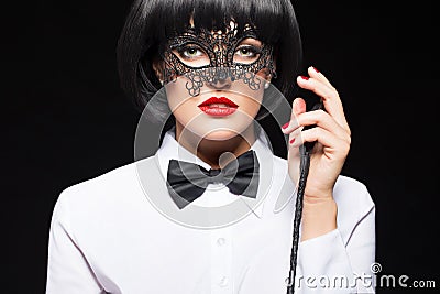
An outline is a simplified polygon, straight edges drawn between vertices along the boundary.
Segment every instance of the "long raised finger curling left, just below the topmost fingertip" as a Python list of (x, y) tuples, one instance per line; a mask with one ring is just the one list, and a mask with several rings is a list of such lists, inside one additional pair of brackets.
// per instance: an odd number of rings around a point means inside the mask
[(309, 78), (305, 76), (299, 76), (297, 78), (297, 83), (301, 88), (311, 90), (320, 96), (327, 112), (329, 112), (329, 115), (332, 116), (342, 128), (350, 131), (341, 99), (336, 89), (328, 87), (326, 84), (316, 78)]

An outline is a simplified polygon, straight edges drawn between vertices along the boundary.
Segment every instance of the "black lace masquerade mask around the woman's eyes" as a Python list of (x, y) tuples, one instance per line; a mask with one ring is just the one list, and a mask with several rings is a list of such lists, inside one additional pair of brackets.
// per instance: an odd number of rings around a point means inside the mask
[[(273, 46), (264, 43), (258, 47), (242, 46), (240, 43), (243, 40), (257, 39), (252, 26), (245, 25), (244, 30), (239, 32), (237, 23), (231, 22), (226, 28), (226, 33), (210, 32), (206, 29), (200, 29), (197, 33), (194, 28), (189, 28), (184, 34), (172, 37), (167, 44), (163, 44), (160, 51), (165, 62), (164, 84), (185, 75), (188, 79), (186, 88), (189, 95), (197, 96), (204, 83), (216, 84), (228, 78), (232, 81), (242, 80), (251, 89), (257, 90), (262, 79), (256, 77), (256, 73), (263, 68), (267, 68), (267, 74), (275, 78)], [(237, 58), (238, 50), (243, 51), (243, 48), (253, 54), (253, 57)], [(199, 52), (202, 58), (185, 61), (183, 54), (189, 51)]]

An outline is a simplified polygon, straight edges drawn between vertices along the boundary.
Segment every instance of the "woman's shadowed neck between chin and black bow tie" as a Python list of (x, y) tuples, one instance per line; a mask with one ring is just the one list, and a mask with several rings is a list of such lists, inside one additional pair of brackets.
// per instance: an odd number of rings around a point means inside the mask
[[(194, 132), (185, 130), (182, 124), (176, 122), (176, 140), (185, 149), (197, 155), (200, 160), (208, 163), (211, 168), (220, 168), (234, 157), (250, 150), (255, 142), (255, 130), (253, 123), (242, 133), (227, 140), (209, 140), (200, 138)], [(231, 156), (232, 153), (233, 156)], [(220, 156), (229, 154), (229, 156)]]

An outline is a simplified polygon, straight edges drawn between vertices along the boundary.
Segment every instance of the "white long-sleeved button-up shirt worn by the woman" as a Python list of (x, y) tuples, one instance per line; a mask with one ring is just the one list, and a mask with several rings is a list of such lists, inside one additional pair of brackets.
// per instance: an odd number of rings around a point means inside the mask
[[(251, 148), (262, 177), (271, 176), (264, 198), (248, 199), (211, 184), (182, 209), (209, 209), (242, 198), (260, 202), (229, 226), (198, 229), (165, 217), (139, 179), (136, 164), (145, 160), (64, 189), (52, 216), (46, 294), (286, 293), (295, 197), (277, 207), (287, 163), (264, 140), (260, 135)], [(178, 150), (168, 132), (156, 154), (162, 174), (148, 181), (166, 178), (170, 159), (209, 170)], [(261, 160), (268, 157), (271, 163)], [(170, 198), (166, 193), (156, 196)], [(299, 243), (295, 293), (374, 293), (369, 279), (375, 258), (374, 203), (363, 184), (345, 176), (339, 176), (333, 197), (338, 228)], [(354, 283), (360, 276), (366, 279)]]

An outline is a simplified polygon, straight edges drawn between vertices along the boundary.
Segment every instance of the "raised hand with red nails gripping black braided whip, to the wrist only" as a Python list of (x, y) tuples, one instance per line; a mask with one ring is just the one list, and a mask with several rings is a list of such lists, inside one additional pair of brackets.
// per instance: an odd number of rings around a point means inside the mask
[[(292, 118), (283, 132), (289, 134), (289, 174), (298, 179), (298, 148), (304, 142), (317, 141), (311, 152), (310, 170), (305, 189), (305, 203), (332, 199), (336, 181), (349, 154), (351, 131), (343, 112), (342, 102), (336, 88), (314, 67), (308, 68), (310, 77), (298, 77), (298, 85), (321, 97), (324, 110), (306, 112), (306, 102), (296, 98)], [(305, 126), (316, 127), (302, 130)]]

